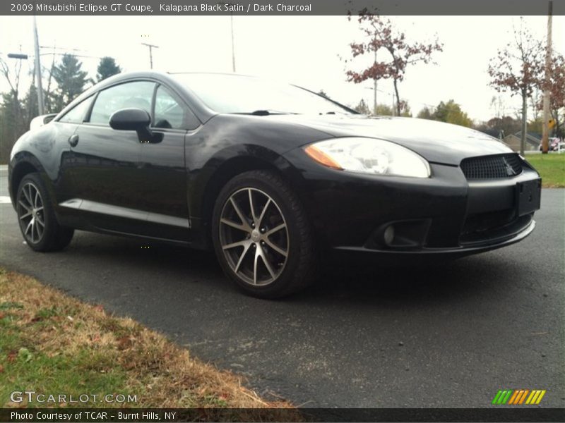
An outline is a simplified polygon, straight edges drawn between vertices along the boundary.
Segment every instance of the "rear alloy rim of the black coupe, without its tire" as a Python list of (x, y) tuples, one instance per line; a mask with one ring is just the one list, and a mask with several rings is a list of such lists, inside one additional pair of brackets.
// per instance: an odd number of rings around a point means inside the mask
[(43, 199), (33, 183), (25, 183), (18, 195), (18, 220), (25, 240), (39, 243), (45, 231)]

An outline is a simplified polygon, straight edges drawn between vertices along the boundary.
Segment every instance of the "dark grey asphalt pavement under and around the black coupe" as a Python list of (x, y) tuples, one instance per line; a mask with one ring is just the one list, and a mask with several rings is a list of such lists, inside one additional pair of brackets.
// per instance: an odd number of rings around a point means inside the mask
[(0, 264), (296, 405), (486, 407), (501, 388), (527, 388), (564, 407), (564, 210), (565, 190), (544, 190), (535, 233), (518, 245), (443, 266), (342, 263), (281, 301), (240, 294), (203, 252), (83, 232), (64, 252), (32, 252), (10, 204), (0, 204)]

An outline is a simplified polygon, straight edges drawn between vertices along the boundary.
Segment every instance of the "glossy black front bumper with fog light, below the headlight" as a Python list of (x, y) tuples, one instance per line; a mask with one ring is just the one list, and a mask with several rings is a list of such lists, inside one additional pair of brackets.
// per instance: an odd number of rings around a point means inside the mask
[[(291, 152), (290, 161), (304, 160), (300, 153)], [(467, 180), (459, 166), (430, 166), (432, 177), (420, 179), (352, 174), (303, 161), (298, 190), (323, 245), (338, 251), (459, 257), (532, 233), (533, 209), (518, 211), (518, 184), (540, 189), (527, 163), (518, 176), (495, 180)], [(388, 226), (395, 235), (386, 242)]]

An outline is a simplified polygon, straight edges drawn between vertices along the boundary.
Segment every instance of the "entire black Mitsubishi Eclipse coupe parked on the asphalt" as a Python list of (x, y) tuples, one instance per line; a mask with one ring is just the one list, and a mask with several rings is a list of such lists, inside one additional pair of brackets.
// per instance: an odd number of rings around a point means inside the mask
[(369, 118), (241, 75), (130, 73), (81, 94), (16, 142), (23, 238), (74, 229), (215, 250), (247, 293), (312, 281), (328, 250), (451, 257), (533, 231), (540, 176), (475, 130)]

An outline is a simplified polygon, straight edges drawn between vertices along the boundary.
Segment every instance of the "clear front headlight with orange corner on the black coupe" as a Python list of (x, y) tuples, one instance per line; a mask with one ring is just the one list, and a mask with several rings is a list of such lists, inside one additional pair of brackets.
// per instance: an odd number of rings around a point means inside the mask
[(323, 166), (374, 175), (429, 178), (429, 164), (412, 150), (376, 138), (347, 137), (314, 142), (304, 152)]

